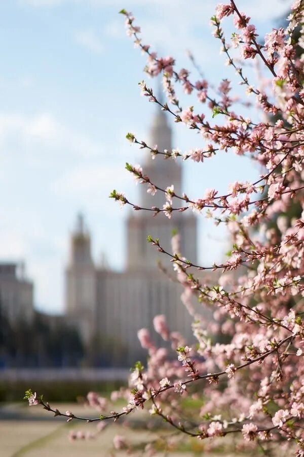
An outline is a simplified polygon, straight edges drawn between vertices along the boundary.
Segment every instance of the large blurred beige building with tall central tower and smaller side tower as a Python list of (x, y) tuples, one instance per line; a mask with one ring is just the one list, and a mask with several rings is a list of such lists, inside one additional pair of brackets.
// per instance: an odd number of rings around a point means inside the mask
[[(151, 146), (160, 151), (172, 149), (171, 129), (166, 114), (158, 111), (150, 129)], [(151, 182), (165, 189), (174, 184), (181, 195), (182, 170), (179, 161), (164, 160), (158, 155), (152, 159), (146, 152), (143, 173)], [(165, 196), (158, 191), (147, 193), (140, 185), (139, 205), (143, 208), (163, 207)], [(174, 199), (173, 206), (182, 206)], [(90, 233), (79, 216), (70, 238), (70, 258), (66, 269), (66, 313), (69, 321), (79, 328), (84, 341), (100, 336), (108, 343), (109, 351), (123, 354), (127, 364), (141, 357), (137, 331), (147, 328), (153, 334), (153, 318), (165, 314), (171, 331), (191, 334), (191, 318), (180, 301), (182, 287), (168, 280), (157, 268), (158, 260), (173, 273), (170, 258), (160, 254), (147, 243), (147, 235), (159, 238), (162, 247), (172, 253), (172, 231), (180, 235), (180, 252), (196, 262), (197, 219), (193, 214), (173, 212), (171, 219), (163, 213), (152, 217), (151, 212), (130, 212), (127, 218), (126, 269), (119, 273), (106, 265), (97, 266), (91, 256)], [(154, 334), (154, 337), (156, 335)], [(158, 337), (156, 337), (158, 338)], [(109, 344), (110, 342), (110, 344)], [(111, 360), (115, 356), (111, 357)], [(118, 357), (119, 359), (119, 357)]]

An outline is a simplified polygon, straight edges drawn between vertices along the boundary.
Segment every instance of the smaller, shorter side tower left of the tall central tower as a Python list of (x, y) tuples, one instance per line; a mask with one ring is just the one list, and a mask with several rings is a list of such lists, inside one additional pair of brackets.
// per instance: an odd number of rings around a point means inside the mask
[(78, 215), (70, 237), (70, 259), (66, 268), (66, 313), (77, 324), (85, 342), (95, 329), (96, 271), (91, 256), (91, 237), (84, 217)]

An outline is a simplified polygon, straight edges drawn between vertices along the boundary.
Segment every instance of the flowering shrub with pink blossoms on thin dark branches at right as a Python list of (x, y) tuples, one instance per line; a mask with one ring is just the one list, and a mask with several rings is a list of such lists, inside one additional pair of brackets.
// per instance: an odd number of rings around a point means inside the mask
[[(230, 231), (234, 245), (229, 257), (226, 262), (211, 266), (194, 265), (191, 259), (182, 257), (177, 236), (173, 239), (173, 253), (163, 249), (161, 240), (147, 239), (171, 257), (177, 279), (184, 287), (184, 303), (187, 305), (191, 297), (197, 296), (202, 305), (211, 309), (226, 343), (214, 342), (214, 321), (204, 321), (195, 314), (193, 333), (197, 344), (189, 347), (181, 335), (169, 330), (163, 315), (156, 316), (155, 330), (170, 341), (176, 360), (168, 359), (167, 350), (155, 346), (147, 330), (139, 330), (140, 343), (149, 355), (147, 366), (137, 363), (130, 377), (131, 389), (112, 394), (113, 400), (128, 396), (127, 405), (120, 412), (80, 419), (117, 421), (144, 409), (160, 416), (180, 435), (210, 438), (210, 443), (214, 437), (237, 435), (239, 446), (251, 449), (253, 455), (255, 446), (271, 452), (281, 442), (284, 455), (294, 451), (296, 456), (304, 456), (303, 4), (296, 0), (287, 27), (273, 29), (264, 39), (233, 0), (218, 5), (211, 19), (227, 65), (236, 71), (262, 113), (260, 122), (237, 113), (239, 101), (231, 96), (229, 80), (224, 79), (217, 90), (205, 79), (192, 80), (188, 70), (176, 69), (173, 57), (159, 57), (143, 44), (134, 17), (121, 11), (128, 35), (147, 57), (145, 72), (151, 77), (162, 74), (167, 102), (158, 100), (145, 82), (140, 83), (143, 95), (167, 111), (175, 122), (199, 132), (205, 146), (185, 152), (168, 151), (131, 133), (127, 139), (153, 157), (173, 160), (204, 162), (220, 151), (232, 150), (251, 157), (264, 172), (256, 182), (231, 183), (223, 195), (216, 189), (206, 189), (195, 200), (185, 193), (177, 194), (171, 183), (160, 188), (143, 174), (141, 167), (127, 164), (127, 170), (146, 186), (147, 192), (164, 194), (164, 205), (141, 208), (114, 190), (110, 197), (122, 206), (168, 218), (174, 212), (195, 211), (213, 218), (217, 225), (225, 224)], [(225, 20), (233, 20), (236, 28), (230, 40), (222, 29)], [(300, 35), (297, 42), (295, 30)], [(260, 61), (269, 75), (268, 85), (264, 79), (262, 87), (250, 83), (242, 67), (246, 59)], [(177, 85), (185, 94), (195, 94), (205, 113), (194, 106), (182, 108)], [(296, 216), (290, 215), (293, 208), (299, 208)], [(208, 270), (221, 273), (215, 284), (206, 285), (200, 279), (199, 271)], [(63, 414), (51, 408), (31, 391), (26, 398), (30, 405), (39, 403), (55, 415), (67, 416), (67, 420), (77, 418), (70, 411)], [(193, 405), (199, 403), (198, 411), (194, 406), (187, 411), (185, 398), (193, 400)], [(106, 409), (106, 402), (93, 393), (88, 401)], [(121, 436), (114, 445), (116, 449), (127, 446)], [(147, 446), (147, 454), (152, 455), (153, 441)], [(131, 452), (130, 447), (128, 451)], [(274, 452), (278, 455), (278, 450)]]

